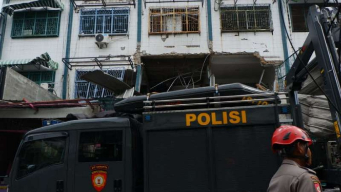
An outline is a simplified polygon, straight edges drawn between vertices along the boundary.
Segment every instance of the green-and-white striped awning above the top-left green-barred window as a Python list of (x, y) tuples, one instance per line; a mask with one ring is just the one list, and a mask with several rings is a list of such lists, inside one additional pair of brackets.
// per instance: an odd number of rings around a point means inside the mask
[(18, 2), (3, 5), (2, 12), (12, 15), (15, 10), (31, 7), (51, 7), (64, 9), (64, 4), (60, 0), (36, 0), (28, 2)]

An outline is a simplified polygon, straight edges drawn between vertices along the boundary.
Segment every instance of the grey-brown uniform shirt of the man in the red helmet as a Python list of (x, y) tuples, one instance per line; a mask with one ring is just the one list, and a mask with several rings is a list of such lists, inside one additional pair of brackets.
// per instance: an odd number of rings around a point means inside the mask
[(272, 177), (267, 192), (321, 192), (316, 172), (284, 160)]

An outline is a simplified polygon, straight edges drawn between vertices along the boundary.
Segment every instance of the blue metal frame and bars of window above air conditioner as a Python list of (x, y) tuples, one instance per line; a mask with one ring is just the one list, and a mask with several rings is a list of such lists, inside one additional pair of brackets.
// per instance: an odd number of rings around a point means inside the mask
[[(127, 11), (127, 13), (115, 13), (115, 11)], [(94, 14), (84, 14), (84, 12), (87, 11), (94, 11)], [(98, 12), (101, 11), (111, 11), (111, 13), (109, 14), (97, 14)], [(98, 16), (98, 17), (97, 17)], [(105, 33), (105, 26), (106, 26), (106, 18), (107, 16), (110, 16), (110, 32), (109, 33)], [(118, 17), (118, 16), (126, 16), (127, 17), (127, 23), (125, 23), (124, 25), (127, 25), (127, 31), (126, 32), (121, 32), (121, 33), (113, 33), (114, 31), (114, 18)], [(78, 32), (78, 36), (94, 36), (96, 34), (108, 34), (110, 36), (118, 36), (118, 35), (129, 35), (129, 23), (130, 23), (130, 8), (129, 7), (113, 7), (113, 8), (99, 8), (99, 9), (81, 9), (80, 13), (79, 13), (79, 32)], [(83, 33), (83, 20), (86, 17), (94, 17), (94, 23), (93, 23), (93, 33)], [(96, 32), (97, 29), (96, 27), (97, 25), (97, 20), (98, 18), (103, 17), (103, 23), (102, 23), (102, 32)]]

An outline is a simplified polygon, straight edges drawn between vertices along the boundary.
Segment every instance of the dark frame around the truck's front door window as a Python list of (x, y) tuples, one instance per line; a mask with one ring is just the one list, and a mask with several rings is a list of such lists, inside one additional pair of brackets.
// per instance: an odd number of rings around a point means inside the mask
[[(42, 167), (42, 168), (39, 168), (37, 170), (34, 170), (24, 176), (21, 176), (19, 177), (19, 170), (20, 170), (20, 163), (21, 163), (21, 155), (22, 155), (22, 151), (23, 151), (23, 148), (24, 146), (27, 144), (27, 143), (31, 143), (31, 142), (35, 142), (35, 141), (39, 141), (39, 140), (49, 140), (49, 139), (56, 139), (56, 138), (64, 138), (64, 149), (63, 149), (63, 154), (61, 157), (63, 157), (62, 161), (59, 162), (59, 163), (53, 163), (53, 164), (50, 164), (50, 165), (47, 165), (45, 167)], [(56, 165), (62, 165), (64, 164), (67, 160), (66, 158), (68, 157), (68, 133), (67, 132), (53, 132), (53, 133), (38, 133), (38, 134), (34, 134), (34, 135), (28, 135), (26, 136), (24, 139), (23, 139), (23, 142), (21, 143), (20, 145), (20, 150), (19, 150), (19, 153), (18, 153), (18, 157), (17, 157), (17, 161), (16, 161), (16, 169), (15, 169), (15, 180), (20, 180), (20, 179), (23, 179), (23, 178), (26, 178), (32, 174), (34, 174), (36, 171), (40, 171), (40, 170), (43, 170), (43, 169), (46, 169), (48, 167), (51, 167), (51, 166), (56, 166)]]

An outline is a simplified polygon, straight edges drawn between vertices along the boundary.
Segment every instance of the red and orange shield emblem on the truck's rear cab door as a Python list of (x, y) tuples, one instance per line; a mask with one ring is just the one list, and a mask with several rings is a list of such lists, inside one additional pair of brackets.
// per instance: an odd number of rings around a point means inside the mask
[(107, 184), (107, 170), (108, 165), (92, 165), (91, 170), (91, 182), (96, 191), (101, 191)]

